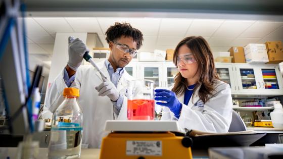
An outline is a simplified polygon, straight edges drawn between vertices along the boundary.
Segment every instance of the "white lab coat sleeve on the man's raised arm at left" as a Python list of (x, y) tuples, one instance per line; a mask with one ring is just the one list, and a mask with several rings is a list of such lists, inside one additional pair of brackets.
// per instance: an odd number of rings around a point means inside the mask
[[(79, 88), (78, 84), (79, 78), (81, 76), (81, 69), (79, 68), (76, 72), (75, 81), (71, 84), (70, 87)], [(54, 113), (59, 105), (64, 101), (63, 91), (64, 88), (67, 88), (67, 85), (64, 81), (64, 70), (55, 78), (51, 83), (51, 86), (46, 94), (45, 107), (49, 109), (51, 113)]]

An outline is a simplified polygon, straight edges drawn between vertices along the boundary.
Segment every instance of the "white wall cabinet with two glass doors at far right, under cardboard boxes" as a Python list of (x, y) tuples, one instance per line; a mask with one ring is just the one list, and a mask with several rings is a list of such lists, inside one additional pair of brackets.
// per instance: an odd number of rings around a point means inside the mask
[(234, 64), (239, 94), (283, 94), (278, 65)]

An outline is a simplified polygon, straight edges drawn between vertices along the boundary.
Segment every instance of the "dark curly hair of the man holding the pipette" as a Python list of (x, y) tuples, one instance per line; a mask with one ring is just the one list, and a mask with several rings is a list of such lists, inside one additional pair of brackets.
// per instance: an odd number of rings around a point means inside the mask
[(136, 41), (136, 49), (139, 49), (143, 45), (143, 34), (136, 28), (132, 28), (129, 23), (115, 22), (115, 25), (110, 26), (106, 33), (106, 41), (109, 44), (110, 41), (114, 41), (121, 36), (132, 37), (133, 41)]

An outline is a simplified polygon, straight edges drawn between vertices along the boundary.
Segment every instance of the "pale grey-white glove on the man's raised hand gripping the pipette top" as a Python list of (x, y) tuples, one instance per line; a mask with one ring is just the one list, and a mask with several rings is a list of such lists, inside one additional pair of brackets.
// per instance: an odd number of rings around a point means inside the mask
[(75, 37), (69, 36), (68, 52), (69, 52), (69, 61), (67, 64), (72, 70), (77, 71), (83, 59), (83, 55), (85, 54), (85, 52), (88, 53), (89, 49), (81, 39), (79, 38), (75, 39)]

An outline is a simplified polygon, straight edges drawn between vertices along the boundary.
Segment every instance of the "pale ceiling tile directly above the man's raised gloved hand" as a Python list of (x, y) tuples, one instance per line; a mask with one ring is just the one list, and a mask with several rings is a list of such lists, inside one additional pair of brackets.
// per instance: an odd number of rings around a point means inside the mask
[(75, 32), (103, 34), (96, 18), (65, 18)]

